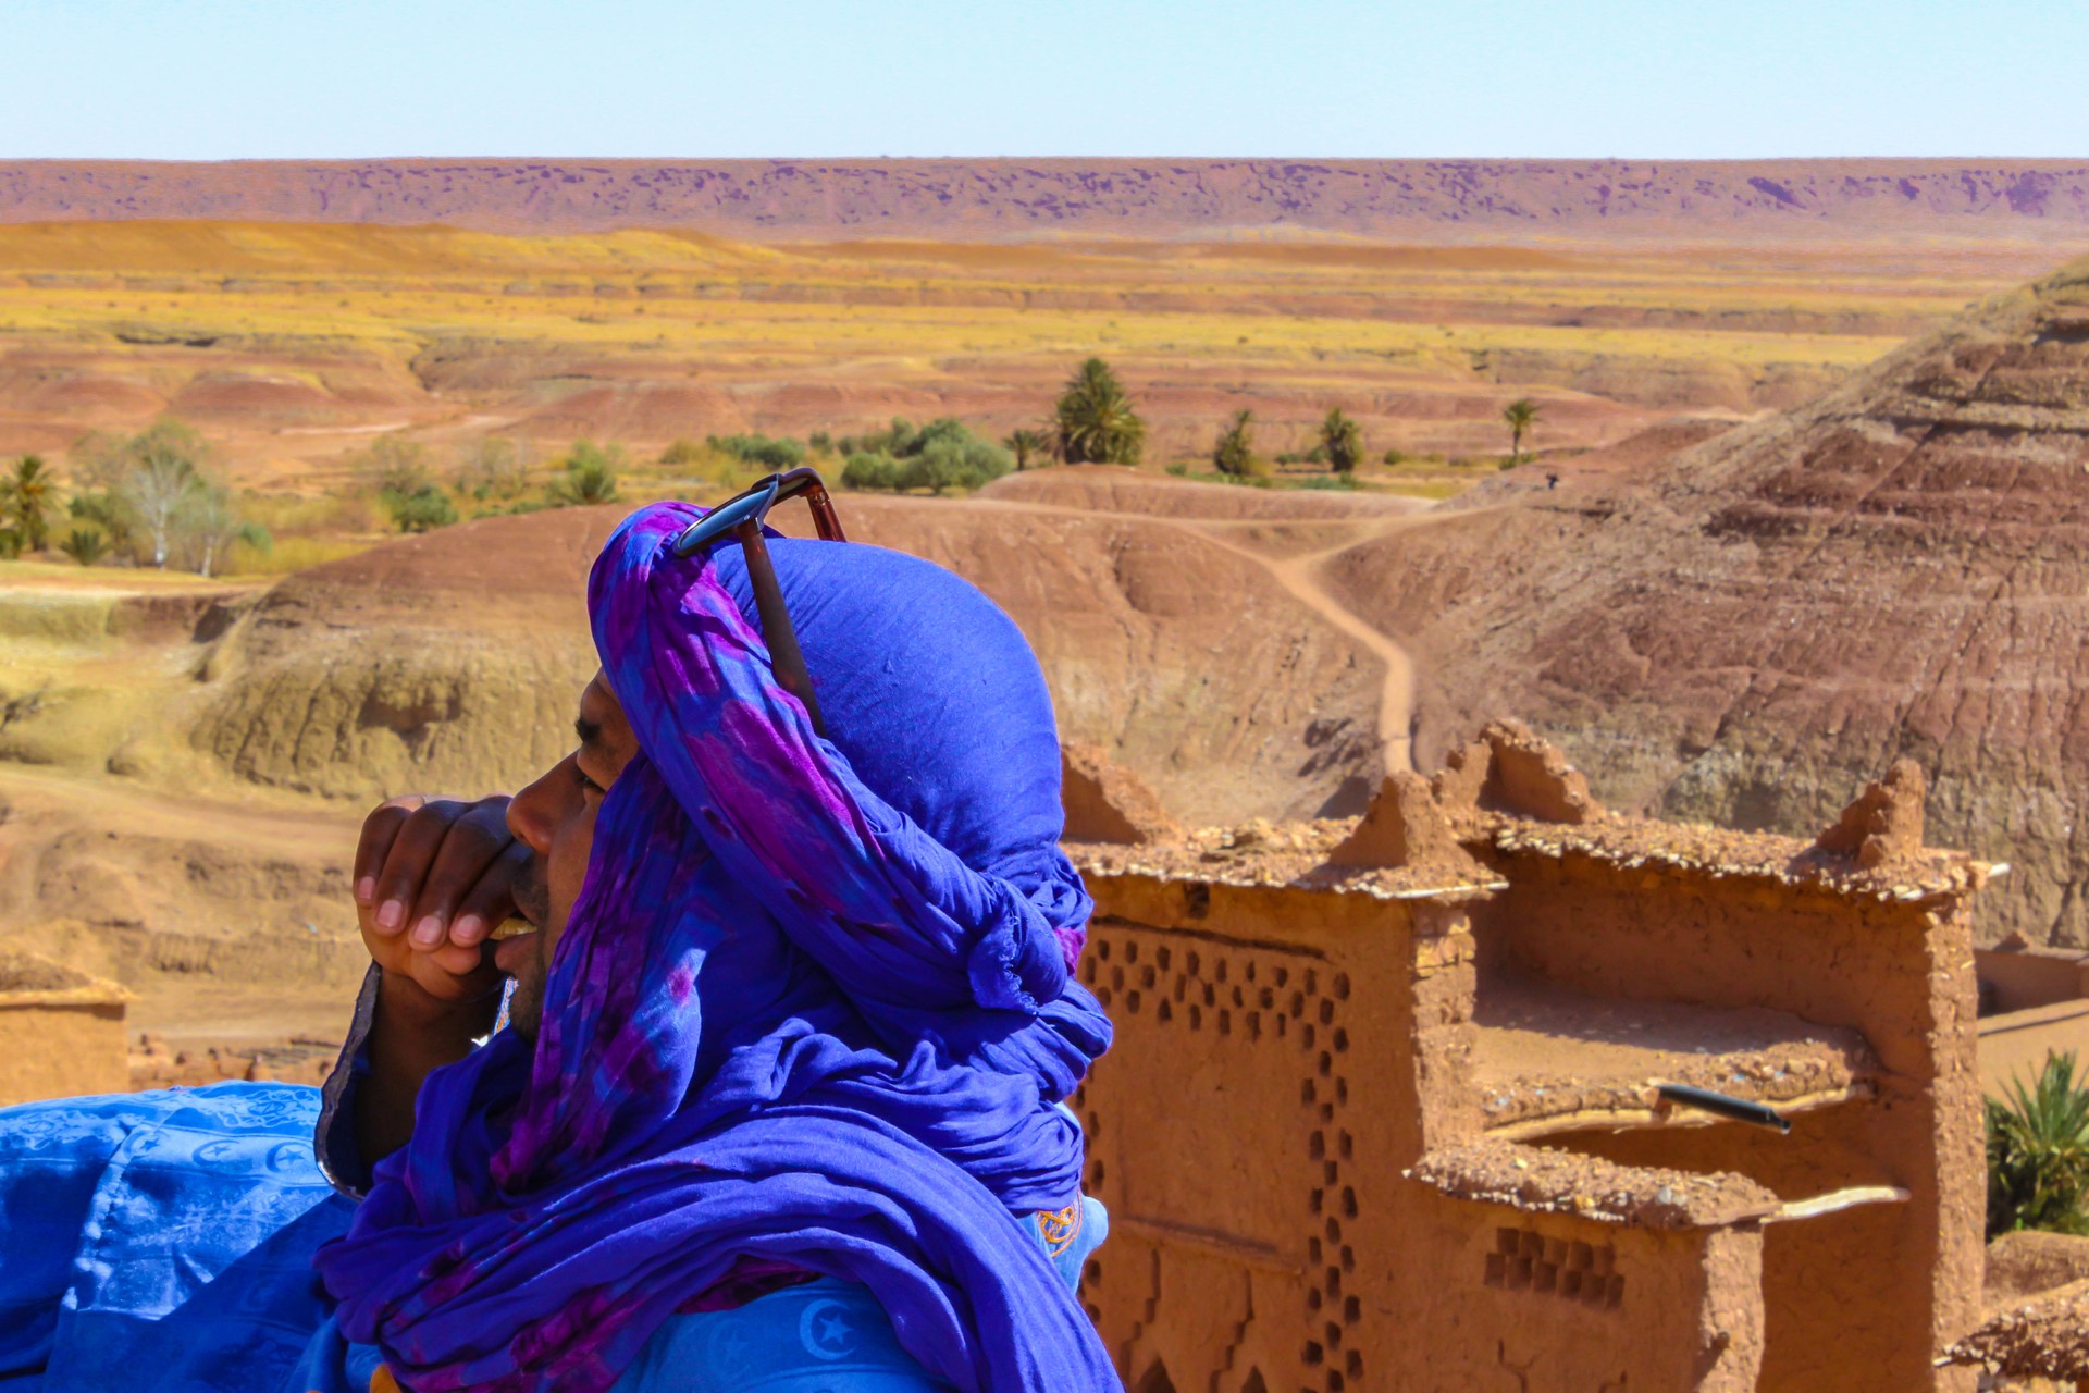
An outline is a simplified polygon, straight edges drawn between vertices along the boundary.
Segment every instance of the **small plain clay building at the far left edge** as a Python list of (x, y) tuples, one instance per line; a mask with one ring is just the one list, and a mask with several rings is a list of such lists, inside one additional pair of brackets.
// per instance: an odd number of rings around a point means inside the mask
[(130, 1088), (130, 1000), (115, 982), (0, 952), (0, 1107)]

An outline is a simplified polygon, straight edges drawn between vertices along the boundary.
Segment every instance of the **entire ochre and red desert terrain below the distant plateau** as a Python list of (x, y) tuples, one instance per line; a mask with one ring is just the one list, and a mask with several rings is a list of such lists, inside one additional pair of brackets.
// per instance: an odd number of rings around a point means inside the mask
[[(175, 418), (274, 543), (213, 576), (0, 562), (0, 946), (123, 982), (171, 1048), (324, 1057), (295, 1042), (338, 1038), (366, 961), (361, 812), (562, 752), (593, 547), (633, 503), (754, 472), (677, 441), (1003, 439), (1097, 355), (1147, 420), (1139, 468), (840, 507), (1009, 608), (1065, 735), (1174, 819), (1354, 817), (1498, 714), (1613, 806), (1782, 831), (1905, 752), (1939, 840), (2028, 871), (1982, 936), (2089, 938), (2066, 777), (2089, 677), (2060, 624), (2089, 378), (2081, 278), (2051, 278), (2089, 249), (2072, 205), (529, 226), (261, 196), (198, 217), (67, 203), (48, 173), (0, 171), (0, 455), (75, 487), (81, 436)], [(1276, 457), (1329, 407), (1364, 432), (1354, 487), (1312, 462), (1210, 478), (1235, 411)], [(1924, 472), (1947, 436), (1957, 464)], [(376, 443), (447, 476), (489, 439), (539, 472), (614, 443), (620, 501), (474, 520), (460, 495), (455, 526), (401, 537), (370, 499)], [(2028, 647), (2014, 604), (2047, 624)]]

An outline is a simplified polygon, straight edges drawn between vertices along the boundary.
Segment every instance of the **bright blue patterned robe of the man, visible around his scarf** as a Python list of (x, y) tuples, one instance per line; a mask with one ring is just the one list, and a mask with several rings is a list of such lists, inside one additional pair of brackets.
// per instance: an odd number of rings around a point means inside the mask
[[(0, 1389), (368, 1393), (378, 1351), (341, 1335), (311, 1272), (353, 1213), (313, 1165), (318, 1107), (213, 1084), (0, 1109)], [(1053, 1259), (1067, 1286), (1105, 1232), (1086, 1201)], [(946, 1387), (869, 1291), (823, 1280), (671, 1318), (616, 1393)]]

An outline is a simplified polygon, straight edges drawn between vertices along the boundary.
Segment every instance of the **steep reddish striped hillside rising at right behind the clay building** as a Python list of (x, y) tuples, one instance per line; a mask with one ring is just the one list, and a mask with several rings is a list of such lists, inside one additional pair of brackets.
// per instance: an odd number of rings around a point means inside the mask
[(2016, 871), (1980, 934), (2089, 942), (2089, 261), (1797, 411), (1360, 547), (1418, 754), (1527, 716), (1598, 796), (1803, 833), (1897, 756)]

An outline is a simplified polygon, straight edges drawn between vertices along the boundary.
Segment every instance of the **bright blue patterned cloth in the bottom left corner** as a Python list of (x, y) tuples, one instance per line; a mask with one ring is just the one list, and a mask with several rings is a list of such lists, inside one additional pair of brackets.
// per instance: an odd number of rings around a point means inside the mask
[(315, 1115), (288, 1084), (0, 1109), (8, 1393), (282, 1389), (330, 1307), (311, 1253), (353, 1211)]

